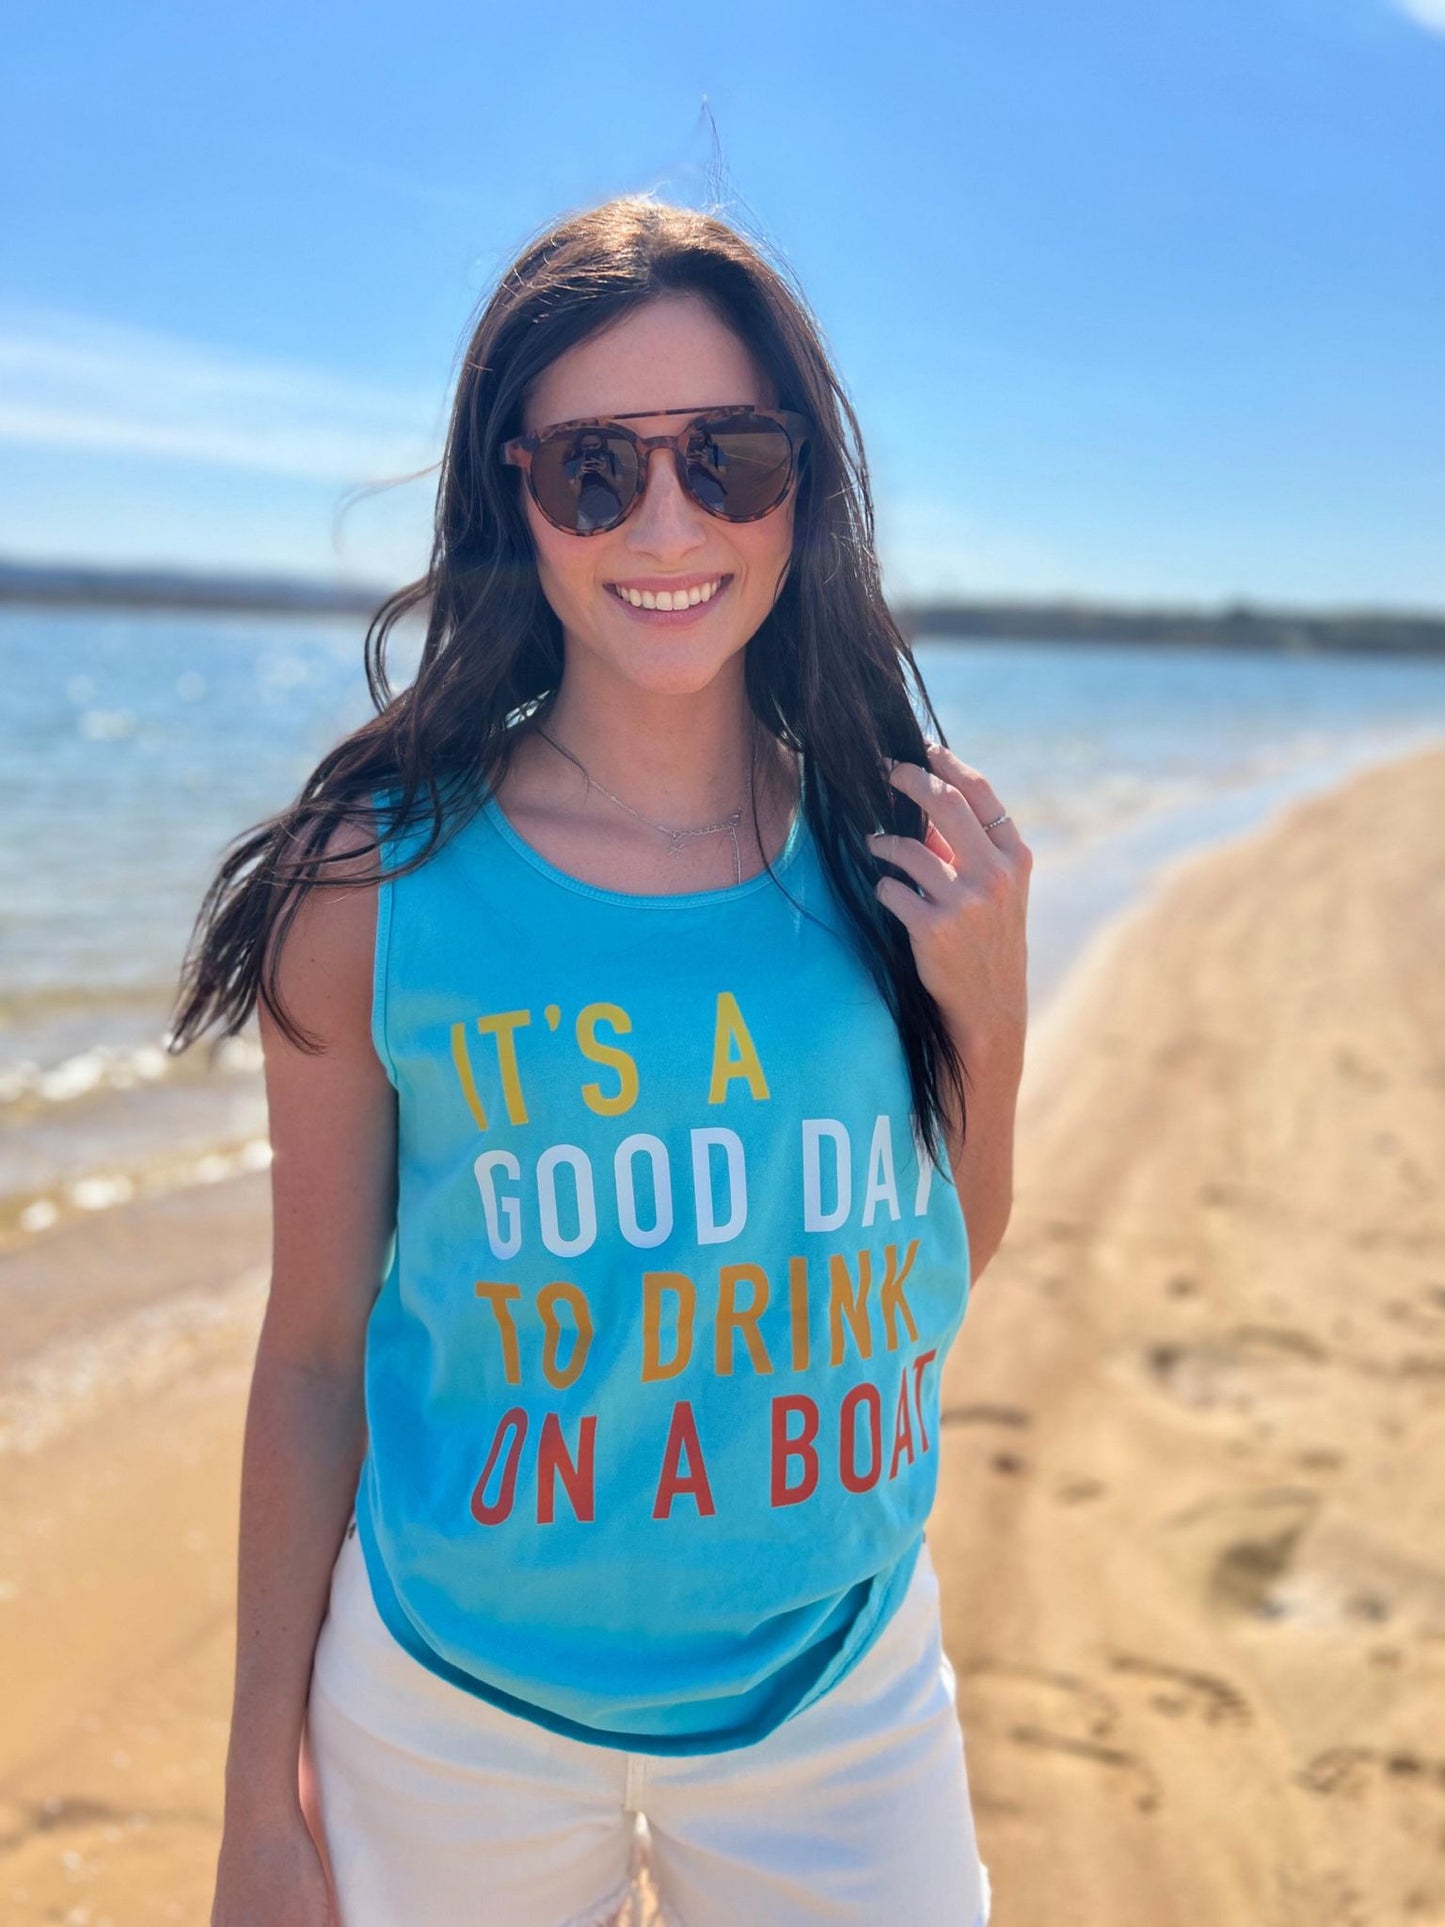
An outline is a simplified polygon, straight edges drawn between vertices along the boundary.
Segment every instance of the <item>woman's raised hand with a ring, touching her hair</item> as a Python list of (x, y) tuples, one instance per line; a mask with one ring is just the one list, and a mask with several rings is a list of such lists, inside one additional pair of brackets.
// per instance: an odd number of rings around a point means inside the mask
[(965, 1058), (1015, 1052), (1029, 1021), (1027, 911), (1033, 852), (1004, 813), (988, 780), (952, 750), (929, 744), (929, 769), (894, 763), (888, 780), (929, 819), (929, 834), (875, 831), (875, 856), (896, 863), (921, 888), (880, 877), (879, 900), (906, 925), (925, 989), (948, 1019)]

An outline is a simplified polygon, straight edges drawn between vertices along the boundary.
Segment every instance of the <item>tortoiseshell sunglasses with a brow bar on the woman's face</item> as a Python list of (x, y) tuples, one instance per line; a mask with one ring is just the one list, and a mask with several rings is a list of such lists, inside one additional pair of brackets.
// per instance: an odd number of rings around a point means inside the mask
[[(638, 436), (624, 422), (686, 414), (674, 436)], [(601, 536), (632, 515), (653, 449), (672, 449), (678, 480), (709, 515), (757, 522), (788, 499), (811, 424), (794, 409), (640, 409), (555, 422), (514, 436), (501, 461), (526, 470), (532, 501), (568, 536)]]

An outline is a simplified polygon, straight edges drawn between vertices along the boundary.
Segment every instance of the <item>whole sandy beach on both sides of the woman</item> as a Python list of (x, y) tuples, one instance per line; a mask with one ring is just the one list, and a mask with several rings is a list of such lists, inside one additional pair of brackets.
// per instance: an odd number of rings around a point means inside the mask
[[(929, 1528), (994, 1927), (1445, 1921), (1445, 753), (1035, 1025)], [(0, 1917), (204, 1923), (254, 1174), (4, 1260)]]

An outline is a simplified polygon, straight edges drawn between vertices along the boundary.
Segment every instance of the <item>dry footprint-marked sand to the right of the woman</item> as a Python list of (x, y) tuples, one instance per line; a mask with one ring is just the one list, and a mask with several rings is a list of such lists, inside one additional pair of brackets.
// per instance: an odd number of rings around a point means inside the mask
[(1445, 755), (1031, 1041), (931, 1544), (996, 1927), (1445, 1921)]

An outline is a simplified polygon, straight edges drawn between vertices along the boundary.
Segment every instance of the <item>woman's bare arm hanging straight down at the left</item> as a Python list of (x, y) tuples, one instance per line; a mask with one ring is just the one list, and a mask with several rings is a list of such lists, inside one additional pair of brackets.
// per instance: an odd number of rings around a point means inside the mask
[[(355, 840), (343, 831), (331, 848)], [(370, 1039), (374, 865), (374, 854), (356, 858), (347, 871), (355, 886), (312, 890), (281, 950), (281, 1000), (326, 1048), (297, 1050), (260, 1010), (272, 1289), (241, 1466), (218, 1921), (260, 1917), (260, 1890), (249, 1885), (258, 1842), (270, 1852), (277, 1840), (304, 1844), (299, 1754), (310, 1667), (366, 1451), (366, 1320), (395, 1224), (397, 1170), (395, 1093)]]

